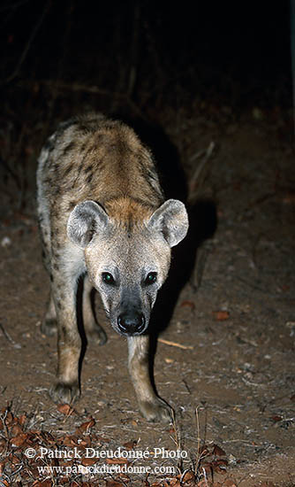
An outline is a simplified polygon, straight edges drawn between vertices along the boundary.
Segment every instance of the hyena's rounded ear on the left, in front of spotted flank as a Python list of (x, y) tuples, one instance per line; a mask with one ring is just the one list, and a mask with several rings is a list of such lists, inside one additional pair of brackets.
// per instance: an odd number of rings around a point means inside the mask
[(108, 215), (95, 201), (83, 201), (76, 205), (70, 214), (67, 234), (72, 243), (85, 249), (95, 233), (106, 228)]

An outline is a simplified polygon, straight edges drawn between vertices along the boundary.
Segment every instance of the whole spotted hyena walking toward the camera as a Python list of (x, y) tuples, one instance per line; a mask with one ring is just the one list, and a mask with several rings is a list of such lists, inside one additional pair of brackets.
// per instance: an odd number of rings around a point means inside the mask
[(170, 421), (151, 384), (148, 321), (170, 267), (170, 248), (186, 235), (185, 205), (164, 201), (151, 152), (131, 128), (101, 114), (68, 120), (49, 137), (37, 171), (44, 264), (50, 276), (42, 331), (57, 328), (56, 402), (79, 397), (81, 338), (76, 293), (84, 276), (88, 340), (103, 344), (90, 292), (98, 290), (116, 331), (127, 337), (129, 371), (140, 413)]

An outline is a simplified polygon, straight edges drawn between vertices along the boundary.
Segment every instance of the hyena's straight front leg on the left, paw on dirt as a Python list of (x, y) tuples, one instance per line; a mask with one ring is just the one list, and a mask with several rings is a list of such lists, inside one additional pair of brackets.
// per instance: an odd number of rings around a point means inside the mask
[[(58, 266), (56, 265), (58, 269)], [(70, 404), (79, 398), (79, 336), (76, 294), (77, 279), (53, 274), (52, 295), (57, 310), (57, 382), (49, 394), (57, 403)]]

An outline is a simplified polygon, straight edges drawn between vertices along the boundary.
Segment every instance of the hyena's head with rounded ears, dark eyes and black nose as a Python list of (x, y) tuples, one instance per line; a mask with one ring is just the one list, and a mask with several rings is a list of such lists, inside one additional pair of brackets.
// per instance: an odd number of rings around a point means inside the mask
[(135, 206), (111, 216), (94, 201), (72, 210), (68, 236), (84, 249), (88, 277), (119, 334), (146, 331), (169, 271), (170, 248), (185, 237), (187, 229), (185, 205), (175, 199), (154, 213)]

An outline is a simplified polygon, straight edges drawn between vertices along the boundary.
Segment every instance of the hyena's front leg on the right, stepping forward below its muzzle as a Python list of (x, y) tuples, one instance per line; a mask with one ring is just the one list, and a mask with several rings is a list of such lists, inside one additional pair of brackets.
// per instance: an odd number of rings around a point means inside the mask
[(149, 374), (149, 336), (128, 336), (129, 373), (140, 406), (148, 421), (170, 422), (172, 410), (155, 394)]

